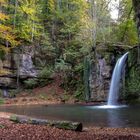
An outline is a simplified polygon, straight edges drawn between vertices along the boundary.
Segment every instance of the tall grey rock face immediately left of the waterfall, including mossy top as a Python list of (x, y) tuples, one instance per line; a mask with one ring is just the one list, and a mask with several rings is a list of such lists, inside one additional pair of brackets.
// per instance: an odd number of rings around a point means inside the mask
[(90, 68), (90, 101), (107, 101), (113, 68), (116, 63), (116, 51), (108, 46), (97, 46)]

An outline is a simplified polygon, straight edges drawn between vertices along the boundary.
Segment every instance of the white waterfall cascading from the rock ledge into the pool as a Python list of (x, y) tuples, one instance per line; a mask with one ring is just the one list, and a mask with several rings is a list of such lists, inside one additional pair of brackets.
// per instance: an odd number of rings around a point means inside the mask
[(107, 105), (117, 105), (118, 93), (120, 89), (120, 80), (122, 78), (123, 71), (125, 70), (125, 62), (128, 57), (128, 52), (120, 57), (115, 65), (111, 85), (109, 90)]

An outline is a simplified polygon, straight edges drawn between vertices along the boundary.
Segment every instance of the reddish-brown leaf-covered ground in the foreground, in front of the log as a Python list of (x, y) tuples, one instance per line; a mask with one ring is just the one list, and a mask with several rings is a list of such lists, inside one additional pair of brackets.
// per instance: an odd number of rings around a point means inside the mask
[(49, 126), (17, 124), (0, 113), (1, 140), (140, 140), (140, 128), (84, 128), (82, 132)]

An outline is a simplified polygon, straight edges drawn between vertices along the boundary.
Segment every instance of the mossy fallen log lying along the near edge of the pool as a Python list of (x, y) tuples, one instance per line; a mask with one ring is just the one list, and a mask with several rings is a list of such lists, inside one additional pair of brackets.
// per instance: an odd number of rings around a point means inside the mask
[(79, 123), (79, 122), (50, 121), (50, 120), (44, 120), (44, 119), (30, 118), (30, 117), (21, 116), (21, 115), (12, 115), (10, 116), (10, 120), (16, 123), (48, 125), (48, 126), (54, 126), (56, 128), (73, 130), (73, 131), (82, 131), (82, 128), (83, 128), (82, 123)]

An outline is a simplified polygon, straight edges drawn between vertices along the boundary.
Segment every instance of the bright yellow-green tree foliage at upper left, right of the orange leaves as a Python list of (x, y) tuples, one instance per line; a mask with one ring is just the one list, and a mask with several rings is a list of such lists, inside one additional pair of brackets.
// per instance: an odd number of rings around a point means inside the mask
[(22, 44), (39, 41), (43, 28), (39, 0), (13, 0), (9, 3), (10, 24)]

